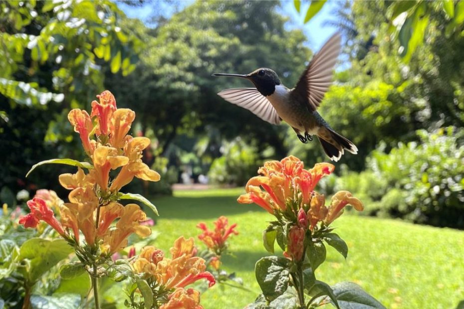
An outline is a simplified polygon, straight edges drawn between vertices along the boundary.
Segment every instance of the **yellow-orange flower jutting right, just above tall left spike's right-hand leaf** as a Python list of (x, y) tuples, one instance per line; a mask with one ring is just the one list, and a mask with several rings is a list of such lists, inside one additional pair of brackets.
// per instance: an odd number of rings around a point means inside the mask
[(111, 184), (110, 191), (119, 191), (123, 186), (134, 179), (134, 176), (143, 180), (158, 181), (160, 174), (151, 170), (147, 164), (142, 162), (142, 151), (150, 145), (150, 139), (145, 137), (133, 138), (124, 146), (124, 154), (129, 158)]

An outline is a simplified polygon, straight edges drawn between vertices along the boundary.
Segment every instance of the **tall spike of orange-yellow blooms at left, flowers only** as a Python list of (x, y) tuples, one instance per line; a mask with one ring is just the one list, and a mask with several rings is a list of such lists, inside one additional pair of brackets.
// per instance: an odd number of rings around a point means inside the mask
[[(135, 113), (116, 108), (114, 96), (109, 91), (97, 97), (100, 102), (92, 102), (90, 116), (80, 109), (68, 114), (93, 168), (89, 173), (78, 168), (74, 174), (59, 176), (60, 184), (71, 190), (68, 203), (60, 202), (53, 191), (37, 192), (34, 201), (28, 203), (31, 213), (20, 223), (35, 227), (40, 220), (51, 222), (63, 237), (74, 238), (77, 244), (82, 232), (88, 245), (98, 244), (105, 254), (111, 254), (127, 245), (130, 234), (148, 236), (151, 233), (149, 227), (140, 224), (147, 217), (138, 205), (123, 206), (117, 202), (119, 189), (134, 177), (158, 181), (160, 175), (142, 162), (142, 151), (149, 146), (150, 140), (128, 135)], [(112, 181), (110, 171), (117, 168), (120, 168), (119, 174)], [(50, 213), (51, 207), (59, 207), (61, 223)], [(119, 219), (116, 225), (110, 227), (116, 219)]]

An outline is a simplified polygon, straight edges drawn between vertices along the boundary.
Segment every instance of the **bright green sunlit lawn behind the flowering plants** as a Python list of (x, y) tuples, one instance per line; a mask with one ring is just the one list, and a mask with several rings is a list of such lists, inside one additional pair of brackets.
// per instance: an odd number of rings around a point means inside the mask
[[(226, 215), (238, 223), (240, 234), (230, 240), (234, 256), (224, 258), (224, 268), (243, 278), (252, 293), (214, 286), (202, 295), (205, 309), (243, 308), (260, 291), (254, 264), (267, 255), (261, 231), (272, 217), (254, 204), (238, 204), (241, 192), (177, 191), (173, 197), (154, 199), (160, 213), (155, 245), (164, 250), (181, 235), (196, 237), (200, 221), (211, 225)], [(348, 259), (328, 248), (318, 279), (329, 284), (356, 282), (387, 308), (451, 309), (464, 300), (464, 232), (346, 214), (333, 225), (348, 244)]]

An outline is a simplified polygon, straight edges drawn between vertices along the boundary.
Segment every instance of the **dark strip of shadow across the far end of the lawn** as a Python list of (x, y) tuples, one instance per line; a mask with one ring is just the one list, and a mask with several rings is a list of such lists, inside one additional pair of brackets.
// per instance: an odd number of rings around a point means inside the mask
[[(203, 220), (218, 218), (222, 215), (261, 211), (257, 205), (239, 204), (237, 196), (161, 196), (150, 200), (156, 205), (160, 217), (163, 219)], [(145, 210), (150, 217), (155, 217), (147, 208)]]

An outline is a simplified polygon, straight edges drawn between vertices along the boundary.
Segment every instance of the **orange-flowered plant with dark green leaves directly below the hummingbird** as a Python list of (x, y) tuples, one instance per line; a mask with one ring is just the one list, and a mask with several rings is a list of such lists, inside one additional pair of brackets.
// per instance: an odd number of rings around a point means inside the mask
[[(268, 161), (249, 179), (239, 203), (255, 203), (275, 217), (263, 232), (264, 247), (274, 253), (274, 243), (284, 257), (269, 256), (256, 263), (255, 273), (262, 295), (247, 308), (313, 308), (332, 303), (347, 308), (353, 303), (383, 308), (353, 283), (334, 287), (316, 280), (315, 271), (324, 262), (328, 244), (345, 258), (348, 246), (330, 224), (346, 205), (363, 210), (363, 204), (348, 191), (339, 191), (325, 205), (325, 197), (314, 191), (317, 182), (334, 170), (334, 165), (317, 163), (304, 169), (294, 156)], [(342, 299), (338, 296), (343, 295)], [(343, 303), (350, 302), (350, 304)], [(351, 308), (351, 307), (350, 307)], [(354, 307), (353, 307), (354, 308)]]

